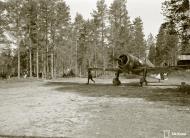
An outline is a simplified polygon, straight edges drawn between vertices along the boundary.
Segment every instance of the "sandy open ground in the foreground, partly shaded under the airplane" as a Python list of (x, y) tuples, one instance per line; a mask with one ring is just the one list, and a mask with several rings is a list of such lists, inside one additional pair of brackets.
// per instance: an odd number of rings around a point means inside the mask
[(177, 80), (139, 87), (136, 79), (0, 81), (0, 135), (74, 138), (190, 137), (190, 95)]

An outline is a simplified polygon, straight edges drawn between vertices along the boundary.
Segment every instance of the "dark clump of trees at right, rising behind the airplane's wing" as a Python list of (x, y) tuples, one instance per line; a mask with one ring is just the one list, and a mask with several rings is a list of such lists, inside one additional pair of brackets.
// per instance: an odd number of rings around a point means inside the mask
[(190, 54), (189, 0), (165, 0), (162, 3), (165, 19), (153, 43), (149, 36), (149, 59), (156, 65), (176, 65), (180, 54)]

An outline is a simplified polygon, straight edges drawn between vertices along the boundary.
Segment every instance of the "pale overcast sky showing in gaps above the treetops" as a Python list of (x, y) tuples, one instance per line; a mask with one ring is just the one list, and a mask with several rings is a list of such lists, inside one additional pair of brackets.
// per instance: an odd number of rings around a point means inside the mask
[[(85, 19), (91, 18), (90, 13), (96, 9), (97, 0), (65, 0), (70, 7), (71, 18), (74, 19), (76, 12), (83, 15)], [(110, 5), (113, 0), (105, 0)], [(146, 37), (152, 33), (157, 35), (160, 24), (163, 22), (161, 14), (161, 3), (164, 0), (127, 0), (127, 10), (131, 20), (140, 16), (143, 20), (144, 33)]]

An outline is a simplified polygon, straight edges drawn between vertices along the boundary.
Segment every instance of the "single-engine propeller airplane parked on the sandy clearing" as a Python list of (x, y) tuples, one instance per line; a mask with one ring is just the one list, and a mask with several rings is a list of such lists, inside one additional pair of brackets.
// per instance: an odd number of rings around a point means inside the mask
[(122, 54), (118, 58), (115, 58), (117, 60), (118, 66), (116, 68), (88, 68), (88, 73), (95, 70), (102, 70), (102, 71), (114, 71), (115, 72), (115, 78), (113, 78), (113, 85), (120, 85), (121, 82), (119, 80), (119, 75), (121, 73), (129, 73), (129, 74), (136, 74), (136, 75), (142, 75), (142, 78), (140, 78), (140, 85), (142, 86), (144, 83), (147, 85), (147, 73), (151, 74), (158, 74), (158, 73), (166, 73), (170, 72), (172, 70), (184, 70), (184, 69), (190, 69), (190, 65), (177, 65), (177, 66), (163, 66), (163, 67), (157, 67), (153, 65), (150, 60), (144, 59), (141, 60), (131, 54)]

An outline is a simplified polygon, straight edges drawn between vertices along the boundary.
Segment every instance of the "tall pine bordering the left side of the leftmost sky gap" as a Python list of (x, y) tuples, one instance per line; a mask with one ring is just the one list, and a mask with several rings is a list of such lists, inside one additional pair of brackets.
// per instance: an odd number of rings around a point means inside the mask
[[(65, 2), (58, 1), (55, 3), (54, 9), (51, 12), (51, 19), (50, 19), (50, 53), (51, 53), (51, 77), (54, 77), (54, 73), (56, 72), (57, 68), (57, 52), (56, 49), (58, 47), (62, 47), (60, 42), (64, 44), (65, 51), (68, 51), (68, 59), (71, 59), (72, 55), (70, 51), (69, 44), (69, 35), (70, 35), (70, 12), (69, 7), (66, 5)], [(64, 38), (64, 40), (62, 40)], [(62, 49), (64, 50), (64, 49)], [(69, 60), (70, 62), (70, 60)], [(70, 64), (70, 63), (68, 63)]]

